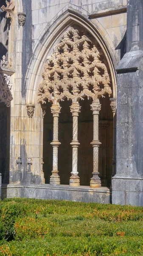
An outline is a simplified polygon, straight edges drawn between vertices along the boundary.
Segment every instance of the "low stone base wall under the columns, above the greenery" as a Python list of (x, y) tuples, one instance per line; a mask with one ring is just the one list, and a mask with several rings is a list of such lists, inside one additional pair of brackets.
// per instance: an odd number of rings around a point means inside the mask
[(57, 199), (79, 202), (93, 202), (109, 204), (111, 203), (111, 191), (107, 187), (91, 189), (88, 186), (80, 188), (66, 185), (50, 186), (44, 185), (2, 185), (1, 198), (37, 198), (37, 199)]

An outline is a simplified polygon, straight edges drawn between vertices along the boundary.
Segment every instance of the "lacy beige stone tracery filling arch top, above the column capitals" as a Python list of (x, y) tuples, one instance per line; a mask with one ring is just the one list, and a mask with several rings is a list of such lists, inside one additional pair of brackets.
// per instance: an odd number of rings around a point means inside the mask
[(70, 26), (48, 58), (39, 84), (38, 102), (54, 105), (67, 98), (79, 102), (112, 95), (104, 53), (95, 39), (79, 26)]

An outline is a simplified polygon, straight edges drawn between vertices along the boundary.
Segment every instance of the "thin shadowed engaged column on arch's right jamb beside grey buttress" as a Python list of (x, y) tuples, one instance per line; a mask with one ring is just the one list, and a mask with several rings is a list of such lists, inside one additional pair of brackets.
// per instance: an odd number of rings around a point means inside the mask
[(112, 176), (115, 175), (116, 170), (116, 98), (110, 99), (110, 106), (113, 112), (113, 162), (112, 162)]

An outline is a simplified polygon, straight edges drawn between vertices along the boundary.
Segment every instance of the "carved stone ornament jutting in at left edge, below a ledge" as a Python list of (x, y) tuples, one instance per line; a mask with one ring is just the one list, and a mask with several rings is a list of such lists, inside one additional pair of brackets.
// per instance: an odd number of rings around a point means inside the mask
[(7, 75), (0, 73), (0, 102), (4, 102), (6, 107), (10, 107), (12, 94), (8, 87)]

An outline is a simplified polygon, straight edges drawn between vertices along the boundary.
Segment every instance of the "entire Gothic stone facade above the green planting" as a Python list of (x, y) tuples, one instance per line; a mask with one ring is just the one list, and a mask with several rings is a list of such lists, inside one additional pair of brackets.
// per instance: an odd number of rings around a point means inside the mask
[(142, 0), (0, 0), (1, 198), (143, 206)]

